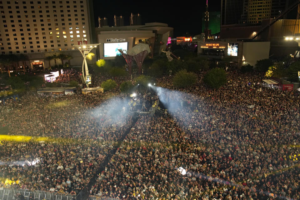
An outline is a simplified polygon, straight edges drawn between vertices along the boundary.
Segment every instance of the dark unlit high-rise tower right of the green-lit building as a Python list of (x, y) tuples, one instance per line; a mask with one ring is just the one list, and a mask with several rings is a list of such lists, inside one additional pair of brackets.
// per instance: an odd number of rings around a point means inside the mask
[(221, 25), (239, 23), (242, 8), (242, 0), (221, 0)]

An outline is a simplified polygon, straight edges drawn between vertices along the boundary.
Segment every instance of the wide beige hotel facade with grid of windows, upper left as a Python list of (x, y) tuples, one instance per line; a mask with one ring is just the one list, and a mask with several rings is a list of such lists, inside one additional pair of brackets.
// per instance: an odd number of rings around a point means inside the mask
[(94, 28), (89, 0), (0, 1), (0, 52), (45, 53), (75, 50), (90, 43)]

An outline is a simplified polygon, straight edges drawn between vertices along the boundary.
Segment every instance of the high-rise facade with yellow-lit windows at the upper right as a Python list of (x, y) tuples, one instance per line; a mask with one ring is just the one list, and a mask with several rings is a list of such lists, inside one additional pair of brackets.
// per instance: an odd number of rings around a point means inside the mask
[(248, 24), (261, 24), (271, 17), (272, 0), (248, 1)]

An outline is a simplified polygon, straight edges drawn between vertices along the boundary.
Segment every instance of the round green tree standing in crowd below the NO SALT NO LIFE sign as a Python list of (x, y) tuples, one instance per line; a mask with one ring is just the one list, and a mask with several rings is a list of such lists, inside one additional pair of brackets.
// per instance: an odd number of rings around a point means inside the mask
[(226, 81), (226, 72), (222, 68), (213, 68), (204, 76), (204, 82), (211, 88), (220, 88)]

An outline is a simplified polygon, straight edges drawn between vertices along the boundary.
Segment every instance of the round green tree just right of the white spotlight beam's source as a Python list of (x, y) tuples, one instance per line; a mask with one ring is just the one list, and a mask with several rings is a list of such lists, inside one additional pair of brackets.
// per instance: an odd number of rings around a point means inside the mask
[(197, 75), (187, 72), (185, 69), (177, 72), (173, 77), (173, 85), (176, 88), (187, 88), (197, 82)]

